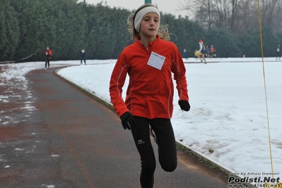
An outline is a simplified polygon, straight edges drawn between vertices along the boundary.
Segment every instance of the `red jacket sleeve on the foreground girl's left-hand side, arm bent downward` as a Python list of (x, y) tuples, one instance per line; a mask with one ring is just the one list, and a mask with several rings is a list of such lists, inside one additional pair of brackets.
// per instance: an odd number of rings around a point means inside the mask
[(127, 106), (122, 98), (122, 87), (124, 86), (125, 79), (127, 78), (127, 59), (125, 55), (120, 54), (117, 59), (117, 63), (112, 71), (110, 78), (110, 98), (114, 110), (117, 112), (119, 117), (125, 112), (129, 112)]

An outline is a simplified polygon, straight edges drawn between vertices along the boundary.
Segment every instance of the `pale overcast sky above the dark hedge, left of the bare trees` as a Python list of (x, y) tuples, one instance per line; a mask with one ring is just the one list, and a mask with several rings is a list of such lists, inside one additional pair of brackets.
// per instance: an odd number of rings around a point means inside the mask
[[(78, 2), (83, 2), (83, 0), (78, 0)], [(87, 4), (98, 4), (102, 0), (86, 0)], [(145, 4), (145, 0), (107, 0), (103, 1), (103, 4), (107, 2), (110, 7), (121, 7), (129, 10), (136, 10), (139, 6)], [(180, 11), (185, 0), (151, 0), (153, 4), (158, 5), (158, 9), (163, 13), (171, 13), (178, 17), (182, 15), (183, 17), (187, 14), (187, 11)]]

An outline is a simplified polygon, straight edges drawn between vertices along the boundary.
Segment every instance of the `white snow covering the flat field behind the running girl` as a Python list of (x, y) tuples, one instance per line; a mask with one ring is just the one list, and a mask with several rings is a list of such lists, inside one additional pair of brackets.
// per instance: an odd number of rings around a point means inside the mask
[[(264, 58), (264, 64), (259, 58), (207, 61), (215, 63), (185, 64), (192, 108), (189, 112), (180, 110), (175, 92), (172, 125), (177, 141), (239, 175), (269, 176), (274, 172), (274, 177), (280, 177), (282, 62), (275, 58)], [(51, 61), (50, 66), (70, 65), (58, 74), (110, 102), (109, 82), (115, 62), (116, 59), (88, 60), (87, 65), (80, 65), (80, 61)], [(42, 74), (48, 74), (44, 64), (1, 64), (4, 73), (0, 84), (11, 84), (16, 79), (24, 85), (24, 76), (30, 70), (42, 69)], [(8, 99), (8, 94), (0, 94), (0, 104)], [(1, 124), (5, 122), (1, 121), (0, 112)]]

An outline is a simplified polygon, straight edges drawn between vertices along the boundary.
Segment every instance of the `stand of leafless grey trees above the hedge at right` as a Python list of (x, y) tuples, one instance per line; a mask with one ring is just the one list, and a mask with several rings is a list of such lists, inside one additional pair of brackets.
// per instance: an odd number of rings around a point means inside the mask
[[(282, 30), (282, 0), (259, 0), (262, 25)], [(228, 28), (244, 33), (258, 26), (257, 1), (253, 0), (185, 0), (182, 10), (206, 28)]]

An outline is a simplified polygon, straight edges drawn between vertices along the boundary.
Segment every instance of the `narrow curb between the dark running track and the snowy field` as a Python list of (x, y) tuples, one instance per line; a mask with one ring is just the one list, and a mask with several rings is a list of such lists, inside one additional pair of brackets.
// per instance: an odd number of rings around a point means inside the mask
[[(61, 68), (64, 69), (64, 68)], [(101, 102), (103, 105), (107, 106), (110, 108), (110, 110), (114, 111), (114, 107), (112, 106), (112, 104), (110, 102), (107, 102), (105, 100), (102, 100), (101, 98), (99, 98), (97, 95), (95, 95), (95, 93), (91, 92), (90, 90), (87, 90), (85, 88), (81, 88), (81, 86), (76, 85), (76, 83), (73, 83), (69, 80), (67, 80), (66, 78), (64, 78), (63, 76), (60, 76), (59, 74), (57, 74), (57, 71), (61, 70), (61, 69), (57, 69), (55, 71), (55, 74), (61, 78), (62, 80), (66, 81), (67, 83), (71, 84), (71, 86), (74, 86), (76, 88), (78, 88), (79, 90), (81, 90), (83, 93), (86, 93), (87, 95), (89, 95), (92, 98), (95, 98), (95, 100), (98, 100), (99, 102)], [(115, 112), (115, 111), (114, 111)], [(226, 168), (223, 165), (221, 165), (220, 163), (218, 163), (216, 160), (213, 160), (211, 158), (208, 158), (208, 156), (199, 153), (197, 151), (194, 151), (192, 148), (190, 148), (189, 146), (186, 146), (184, 143), (182, 143), (181, 141), (176, 141), (177, 143), (177, 147), (182, 149), (182, 151), (187, 151), (189, 153), (192, 153), (193, 155), (195, 155), (197, 158), (201, 158), (203, 159), (205, 162), (211, 163), (211, 165), (219, 168), (219, 170), (221, 170), (222, 172), (224, 172), (226, 175), (228, 176), (234, 176), (234, 177), (239, 177), (239, 178), (243, 178), (242, 176), (238, 175), (239, 173), (231, 170), (230, 168)]]

